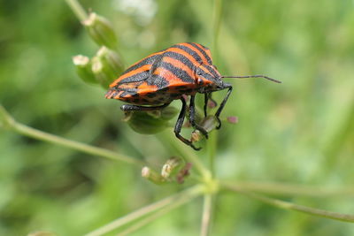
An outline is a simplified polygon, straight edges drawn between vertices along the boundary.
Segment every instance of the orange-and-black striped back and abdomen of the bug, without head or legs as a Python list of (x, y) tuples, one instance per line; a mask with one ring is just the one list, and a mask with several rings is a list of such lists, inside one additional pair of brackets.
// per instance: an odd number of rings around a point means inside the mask
[(201, 64), (212, 65), (209, 49), (194, 42), (175, 44), (130, 66), (111, 84), (106, 97), (128, 103), (157, 103), (150, 95), (171, 102), (182, 94), (196, 92), (195, 71)]

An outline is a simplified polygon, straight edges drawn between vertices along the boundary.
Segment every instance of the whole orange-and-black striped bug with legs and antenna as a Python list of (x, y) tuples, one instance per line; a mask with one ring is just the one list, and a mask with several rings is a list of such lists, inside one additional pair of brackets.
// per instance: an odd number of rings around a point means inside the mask
[(187, 102), (183, 95), (190, 95), (189, 122), (191, 126), (208, 138), (205, 129), (196, 124), (196, 93), (204, 94), (204, 115), (206, 116), (206, 104), (209, 99), (212, 99), (212, 92), (228, 89), (227, 95), (215, 112), (219, 129), (221, 126), (219, 115), (233, 89), (231, 84), (221, 79), (251, 77), (273, 80), (264, 75), (221, 76), (216, 66), (212, 65), (212, 55), (208, 48), (199, 43), (184, 42), (153, 53), (127, 68), (110, 85), (105, 97), (132, 103), (122, 105), (121, 110), (158, 110), (165, 108), (173, 100), (180, 99), (182, 107), (174, 133), (178, 139), (198, 150), (200, 148), (196, 148), (191, 141), (181, 136), (181, 127), (187, 110)]

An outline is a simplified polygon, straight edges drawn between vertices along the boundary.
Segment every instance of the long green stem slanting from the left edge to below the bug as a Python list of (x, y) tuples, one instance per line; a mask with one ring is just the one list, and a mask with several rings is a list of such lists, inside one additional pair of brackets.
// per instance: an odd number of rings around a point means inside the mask
[(17, 133), (21, 133), (37, 140), (48, 141), (54, 144), (64, 146), (66, 148), (73, 148), (75, 150), (79, 150), (81, 152), (88, 153), (93, 156), (102, 156), (115, 161), (125, 162), (127, 164), (135, 164), (138, 166), (145, 165), (144, 162), (136, 160), (135, 158), (130, 156), (120, 155), (104, 148), (96, 148), (79, 141), (67, 140), (65, 138), (58, 137), (57, 135), (45, 133), (35, 128), (20, 124), (16, 122), (6, 110), (4, 110), (4, 107), (2, 105), (0, 105), (0, 121), (3, 121), (5, 128), (11, 129)]

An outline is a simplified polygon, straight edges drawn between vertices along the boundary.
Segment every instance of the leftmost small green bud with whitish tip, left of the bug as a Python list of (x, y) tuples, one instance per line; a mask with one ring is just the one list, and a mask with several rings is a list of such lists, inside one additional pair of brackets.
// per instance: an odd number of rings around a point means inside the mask
[(77, 55), (73, 57), (73, 65), (75, 65), (76, 72), (81, 78), (81, 80), (90, 84), (98, 83), (94, 73), (92, 72), (89, 57)]

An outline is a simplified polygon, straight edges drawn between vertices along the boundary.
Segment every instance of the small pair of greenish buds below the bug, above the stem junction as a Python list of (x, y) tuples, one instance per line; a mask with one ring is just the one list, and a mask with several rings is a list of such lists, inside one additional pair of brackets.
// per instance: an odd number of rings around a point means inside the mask
[(161, 168), (161, 173), (151, 170), (145, 166), (142, 168), (142, 177), (148, 179), (151, 182), (162, 185), (165, 183), (177, 182), (182, 184), (186, 177), (189, 176), (191, 164), (185, 164), (180, 157), (171, 157)]

